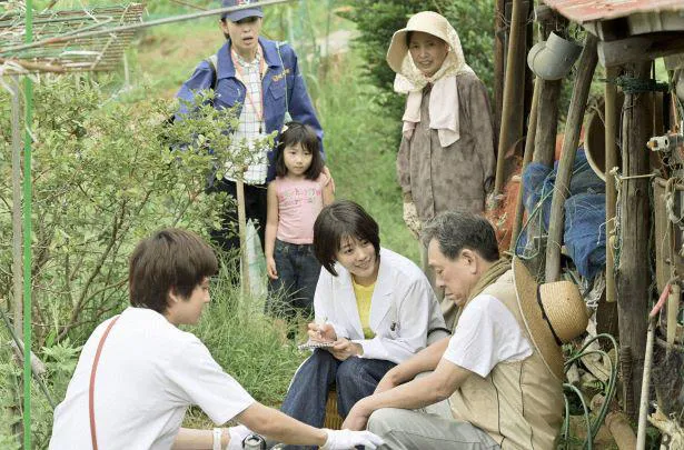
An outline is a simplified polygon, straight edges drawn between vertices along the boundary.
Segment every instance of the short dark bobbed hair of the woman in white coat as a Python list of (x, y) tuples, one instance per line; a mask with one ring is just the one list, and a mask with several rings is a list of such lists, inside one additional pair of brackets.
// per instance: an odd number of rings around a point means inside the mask
[(380, 230), (375, 219), (358, 203), (337, 200), (325, 207), (314, 223), (314, 253), (334, 277), (336, 256), (345, 238), (368, 241), (376, 257), (380, 256)]

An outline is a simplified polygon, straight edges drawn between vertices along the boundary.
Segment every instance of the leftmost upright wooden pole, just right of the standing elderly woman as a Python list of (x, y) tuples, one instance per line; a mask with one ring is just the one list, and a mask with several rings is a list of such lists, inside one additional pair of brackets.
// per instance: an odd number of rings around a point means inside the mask
[[(496, 209), (504, 186), (504, 161), (508, 149), (519, 140), (523, 128), (523, 96), (524, 89), (521, 87), (525, 82), (525, 71), (523, 67), (525, 50), (525, 26), (523, 0), (513, 0), (513, 12), (510, 13), (510, 37), (508, 39), (508, 53), (506, 57), (506, 82), (504, 84), (504, 102), (502, 111), (502, 129), (498, 138), (498, 152), (496, 157), (496, 177), (494, 179), (494, 203), (489, 207)], [(523, 32), (521, 32), (521, 29)], [(521, 37), (523, 40), (521, 40)], [(522, 69), (522, 70), (521, 70)]]

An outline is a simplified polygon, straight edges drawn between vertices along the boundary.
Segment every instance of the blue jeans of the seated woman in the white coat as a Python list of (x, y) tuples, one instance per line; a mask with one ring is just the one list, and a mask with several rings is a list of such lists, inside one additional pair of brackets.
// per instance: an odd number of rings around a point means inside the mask
[[(346, 418), (351, 407), (370, 396), (385, 373), (395, 366), (381, 359), (357, 357), (339, 361), (327, 350), (317, 349), (295, 373), (280, 411), (311, 427), (321, 428), (333, 384), (337, 390), (337, 412)], [(307, 447), (287, 446), (286, 449)]]

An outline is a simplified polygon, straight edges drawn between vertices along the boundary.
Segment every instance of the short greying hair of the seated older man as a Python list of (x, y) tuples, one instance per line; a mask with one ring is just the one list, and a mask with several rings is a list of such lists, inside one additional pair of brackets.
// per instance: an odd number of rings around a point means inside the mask
[(435, 239), (439, 251), (450, 260), (458, 259), (463, 249), (476, 251), (489, 262), (499, 258), (494, 227), (468, 211), (440, 212), (425, 224), (422, 234), (426, 246)]

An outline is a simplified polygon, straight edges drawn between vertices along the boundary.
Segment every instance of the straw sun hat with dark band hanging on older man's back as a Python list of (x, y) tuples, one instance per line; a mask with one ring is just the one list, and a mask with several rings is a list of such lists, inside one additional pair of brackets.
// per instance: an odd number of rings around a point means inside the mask
[(544, 363), (563, 380), (561, 346), (582, 334), (587, 327), (586, 304), (572, 281), (537, 284), (523, 261), (513, 259), (518, 307), (534, 347)]

